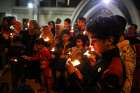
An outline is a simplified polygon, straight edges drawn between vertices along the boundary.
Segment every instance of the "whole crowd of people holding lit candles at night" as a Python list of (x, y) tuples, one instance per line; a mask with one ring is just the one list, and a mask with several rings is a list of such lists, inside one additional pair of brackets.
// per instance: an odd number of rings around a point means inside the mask
[(136, 24), (126, 25), (119, 15), (79, 17), (74, 26), (70, 18), (39, 26), (4, 17), (0, 67), (10, 65), (13, 93), (26, 79), (46, 93), (132, 93), (140, 37)]

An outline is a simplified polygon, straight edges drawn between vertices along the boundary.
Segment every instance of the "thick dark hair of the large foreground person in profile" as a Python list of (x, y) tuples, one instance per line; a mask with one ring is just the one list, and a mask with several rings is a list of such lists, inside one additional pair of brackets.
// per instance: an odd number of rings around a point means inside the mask
[[(87, 31), (91, 32), (94, 37), (99, 39), (108, 39), (110, 36), (116, 36), (118, 25), (111, 17), (97, 17), (87, 25)], [(115, 39), (114, 39), (115, 40)], [(119, 38), (113, 42), (118, 43)]]

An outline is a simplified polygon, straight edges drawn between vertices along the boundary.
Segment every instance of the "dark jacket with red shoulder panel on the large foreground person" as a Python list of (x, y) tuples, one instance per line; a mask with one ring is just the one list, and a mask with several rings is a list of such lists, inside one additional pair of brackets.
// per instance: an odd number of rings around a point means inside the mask
[(121, 93), (124, 68), (118, 48), (104, 52), (94, 66), (88, 61), (81, 65), (84, 79), (79, 80), (75, 73), (69, 77), (73, 93)]

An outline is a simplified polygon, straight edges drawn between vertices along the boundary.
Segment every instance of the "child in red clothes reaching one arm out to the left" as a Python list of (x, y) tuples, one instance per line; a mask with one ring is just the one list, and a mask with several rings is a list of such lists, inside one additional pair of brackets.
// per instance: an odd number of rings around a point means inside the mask
[(45, 87), (47, 88), (47, 92), (50, 93), (52, 89), (52, 71), (51, 68), (49, 67), (49, 62), (51, 60), (51, 53), (48, 50), (47, 47), (45, 47), (45, 42), (44, 40), (38, 39), (35, 43), (34, 48), (38, 51), (35, 55), (33, 56), (23, 56), (24, 59), (28, 61), (40, 61), (40, 67), (43, 72), (43, 78), (44, 78), (44, 84)]

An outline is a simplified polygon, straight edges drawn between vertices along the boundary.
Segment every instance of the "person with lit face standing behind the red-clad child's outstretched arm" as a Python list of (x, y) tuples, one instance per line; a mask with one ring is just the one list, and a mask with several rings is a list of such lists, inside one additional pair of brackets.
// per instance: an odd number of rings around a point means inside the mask
[[(36, 54), (36, 50), (34, 50), (35, 41), (40, 36), (40, 26), (36, 20), (29, 20), (28, 22), (28, 30), (24, 33), (20, 33), (20, 37), (22, 38), (23, 44), (26, 46), (25, 55), (32, 56)], [(36, 79), (40, 81), (40, 62), (36, 60), (34, 62), (27, 63), (27, 77), (30, 79)]]

